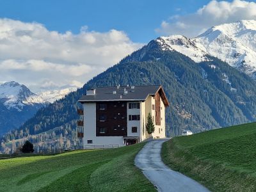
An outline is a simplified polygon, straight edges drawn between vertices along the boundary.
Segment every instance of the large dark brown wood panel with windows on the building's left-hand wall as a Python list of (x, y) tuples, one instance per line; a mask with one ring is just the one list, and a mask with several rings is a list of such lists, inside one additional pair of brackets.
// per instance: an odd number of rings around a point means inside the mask
[(127, 136), (127, 102), (96, 102), (96, 136)]

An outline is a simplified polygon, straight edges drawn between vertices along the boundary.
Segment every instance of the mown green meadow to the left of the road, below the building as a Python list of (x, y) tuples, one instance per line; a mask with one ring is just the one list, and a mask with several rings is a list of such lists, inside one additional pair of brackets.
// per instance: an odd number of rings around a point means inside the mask
[(0, 160), (0, 191), (155, 191), (134, 166), (143, 145)]

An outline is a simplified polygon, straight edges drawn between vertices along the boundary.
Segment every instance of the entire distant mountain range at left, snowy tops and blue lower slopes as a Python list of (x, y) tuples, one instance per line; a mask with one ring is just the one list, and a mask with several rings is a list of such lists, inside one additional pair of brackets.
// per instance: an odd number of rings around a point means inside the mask
[(24, 84), (15, 81), (0, 84), (0, 135), (17, 129), (36, 111), (55, 100), (63, 98), (76, 88), (65, 88), (35, 94)]

